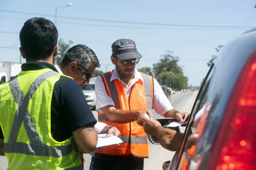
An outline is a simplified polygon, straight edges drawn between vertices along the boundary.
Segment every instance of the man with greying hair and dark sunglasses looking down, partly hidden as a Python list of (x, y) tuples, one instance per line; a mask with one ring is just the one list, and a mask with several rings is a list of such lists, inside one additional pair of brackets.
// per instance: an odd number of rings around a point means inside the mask
[[(72, 77), (81, 88), (85, 84), (89, 84), (96, 67), (100, 67), (96, 54), (92, 49), (81, 44), (71, 47), (64, 55), (61, 64), (55, 65), (55, 68), (60, 74)], [(120, 137), (120, 131), (114, 126), (97, 122), (94, 127), (98, 134), (107, 133), (107, 136), (113, 134)]]

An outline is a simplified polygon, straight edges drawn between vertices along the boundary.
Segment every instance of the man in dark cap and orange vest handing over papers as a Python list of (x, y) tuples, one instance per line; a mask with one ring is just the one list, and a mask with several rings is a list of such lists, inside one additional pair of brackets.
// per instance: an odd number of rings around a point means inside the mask
[(135, 68), (141, 58), (135, 42), (116, 40), (112, 44), (113, 71), (96, 78), (96, 111), (99, 122), (117, 127), (122, 144), (99, 150), (92, 157), (90, 170), (143, 170), (149, 141), (143, 130), (143, 114), (158, 114), (184, 122), (189, 113), (172, 108), (157, 80)]

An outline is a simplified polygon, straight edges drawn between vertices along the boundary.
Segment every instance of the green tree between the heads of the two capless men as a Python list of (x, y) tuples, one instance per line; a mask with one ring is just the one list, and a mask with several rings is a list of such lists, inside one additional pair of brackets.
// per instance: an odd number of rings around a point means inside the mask
[(58, 55), (55, 59), (55, 64), (61, 64), (61, 60), (63, 59), (67, 50), (70, 48), (71, 44), (73, 44), (73, 41), (71, 40), (69, 40), (68, 43), (64, 42), (62, 38), (58, 41)]

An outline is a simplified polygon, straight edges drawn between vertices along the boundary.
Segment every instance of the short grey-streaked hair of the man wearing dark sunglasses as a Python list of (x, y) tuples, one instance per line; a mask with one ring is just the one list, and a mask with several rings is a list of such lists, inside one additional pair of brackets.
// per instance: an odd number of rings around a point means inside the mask
[(100, 67), (99, 59), (96, 54), (86, 45), (78, 44), (71, 47), (64, 55), (60, 66), (65, 67), (73, 61), (82, 65), (84, 68), (89, 68), (91, 62), (95, 67)]

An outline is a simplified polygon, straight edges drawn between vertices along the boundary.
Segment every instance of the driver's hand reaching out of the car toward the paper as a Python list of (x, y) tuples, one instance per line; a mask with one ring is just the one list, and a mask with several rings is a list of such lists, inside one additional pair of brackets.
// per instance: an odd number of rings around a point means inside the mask
[(147, 118), (144, 118), (144, 119), (145, 120), (143, 122), (143, 129), (145, 133), (156, 136), (155, 131), (159, 128), (162, 128), (162, 125), (160, 124), (160, 122), (158, 122), (155, 119), (147, 119)]

